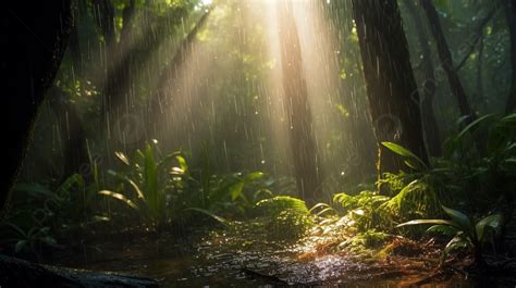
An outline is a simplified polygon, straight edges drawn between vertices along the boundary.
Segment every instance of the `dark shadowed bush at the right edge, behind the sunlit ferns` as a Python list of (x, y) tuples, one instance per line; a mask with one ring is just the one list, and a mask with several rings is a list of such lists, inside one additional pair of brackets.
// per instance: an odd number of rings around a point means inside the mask
[[(486, 115), (444, 143), (434, 172), (449, 193), (478, 212), (516, 190), (516, 114)], [(466, 193), (467, 192), (467, 193)]]

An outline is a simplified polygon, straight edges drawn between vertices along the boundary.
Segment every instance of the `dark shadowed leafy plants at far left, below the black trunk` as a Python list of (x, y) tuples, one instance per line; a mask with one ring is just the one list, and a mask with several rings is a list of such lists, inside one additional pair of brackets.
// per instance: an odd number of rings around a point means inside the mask
[(1, 240), (12, 243), (14, 253), (38, 258), (44, 247), (59, 247), (57, 231), (64, 234), (93, 216), (95, 186), (86, 186), (78, 174), (57, 186), (19, 183), (14, 190), (16, 209), (0, 223)]

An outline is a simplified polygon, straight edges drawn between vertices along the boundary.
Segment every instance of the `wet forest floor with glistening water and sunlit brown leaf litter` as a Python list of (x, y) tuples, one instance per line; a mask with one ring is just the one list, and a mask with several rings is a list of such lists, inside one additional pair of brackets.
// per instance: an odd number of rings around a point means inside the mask
[(297, 241), (268, 234), (258, 222), (159, 237), (125, 233), (65, 249), (49, 263), (153, 277), (161, 287), (516, 285), (511, 274), (468, 272), (467, 256), (452, 258), (441, 267), (442, 243), (433, 239), (416, 242), (393, 236), (376, 248), (337, 250), (336, 238), (316, 229)]

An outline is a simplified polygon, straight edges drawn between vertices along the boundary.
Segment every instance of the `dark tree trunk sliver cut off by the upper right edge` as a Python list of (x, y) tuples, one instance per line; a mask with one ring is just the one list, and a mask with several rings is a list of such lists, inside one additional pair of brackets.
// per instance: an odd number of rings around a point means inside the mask
[(513, 68), (511, 91), (505, 104), (505, 113), (508, 114), (516, 110), (516, 4), (512, 0), (506, 0), (505, 18), (511, 37), (511, 67)]

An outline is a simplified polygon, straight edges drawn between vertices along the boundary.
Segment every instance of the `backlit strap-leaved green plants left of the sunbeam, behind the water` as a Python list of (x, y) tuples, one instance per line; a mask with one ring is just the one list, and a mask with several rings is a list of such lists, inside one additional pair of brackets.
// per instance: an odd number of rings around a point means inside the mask
[(136, 211), (147, 224), (171, 224), (185, 212), (195, 212), (226, 225), (220, 213), (245, 214), (268, 195), (270, 181), (261, 172), (212, 174), (208, 161), (200, 168), (191, 167), (182, 152), (160, 156), (156, 143), (147, 143), (131, 160), (116, 152), (125, 166), (109, 171), (119, 180), (118, 188), (99, 191)]

